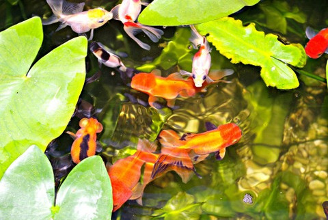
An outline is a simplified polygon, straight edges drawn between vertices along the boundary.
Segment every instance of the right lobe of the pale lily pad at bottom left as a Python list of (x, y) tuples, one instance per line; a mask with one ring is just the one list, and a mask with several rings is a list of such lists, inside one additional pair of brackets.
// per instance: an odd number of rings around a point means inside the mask
[(54, 219), (111, 219), (111, 181), (100, 156), (81, 161), (57, 193)]

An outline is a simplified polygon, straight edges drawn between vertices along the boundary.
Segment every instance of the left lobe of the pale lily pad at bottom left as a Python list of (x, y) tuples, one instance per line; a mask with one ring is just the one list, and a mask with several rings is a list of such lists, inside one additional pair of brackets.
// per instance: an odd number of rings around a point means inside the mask
[(37, 146), (31, 146), (0, 180), (1, 219), (51, 219), (54, 200), (51, 164)]

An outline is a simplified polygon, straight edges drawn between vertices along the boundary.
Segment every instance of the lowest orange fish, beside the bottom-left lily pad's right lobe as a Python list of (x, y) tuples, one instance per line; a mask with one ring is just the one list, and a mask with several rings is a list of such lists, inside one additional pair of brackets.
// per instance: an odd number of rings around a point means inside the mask
[[(154, 163), (159, 159), (159, 154), (153, 153), (155, 150), (155, 143), (139, 139), (135, 154), (120, 159), (107, 168), (113, 189), (113, 212), (127, 200), (137, 200), (138, 204), (142, 205), (141, 198), (146, 185), (167, 171), (176, 171), (184, 182), (190, 179), (192, 171), (176, 165), (163, 169), (161, 173), (151, 178)], [(143, 165), (143, 180), (140, 184), (139, 179)]]

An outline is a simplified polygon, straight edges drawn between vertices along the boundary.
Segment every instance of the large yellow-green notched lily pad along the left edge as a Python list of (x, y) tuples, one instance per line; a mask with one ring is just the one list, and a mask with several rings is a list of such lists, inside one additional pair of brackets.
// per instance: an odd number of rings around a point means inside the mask
[(38, 17), (0, 32), (0, 177), (27, 146), (45, 150), (64, 131), (83, 87), (87, 39), (74, 38), (31, 67), (42, 38)]

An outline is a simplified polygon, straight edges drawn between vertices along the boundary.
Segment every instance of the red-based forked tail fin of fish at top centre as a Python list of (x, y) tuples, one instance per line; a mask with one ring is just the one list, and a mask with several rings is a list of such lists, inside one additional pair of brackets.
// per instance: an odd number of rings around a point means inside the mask
[(141, 48), (149, 51), (150, 46), (146, 43), (141, 42), (141, 40), (137, 39), (135, 35), (143, 31), (146, 35), (152, 40), (152, 42), (158, 42), (161, 36), (163, 35), (163, 31), (161, 29), (156, 29), (154, 27), (148, 27), (146, 25), (141, 25), (140, 23), (126, 22), (124, 23), (124, 31), (128, 34), (130, 38), (135, 40)]

